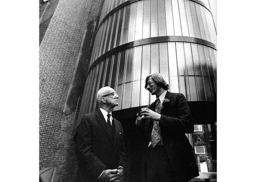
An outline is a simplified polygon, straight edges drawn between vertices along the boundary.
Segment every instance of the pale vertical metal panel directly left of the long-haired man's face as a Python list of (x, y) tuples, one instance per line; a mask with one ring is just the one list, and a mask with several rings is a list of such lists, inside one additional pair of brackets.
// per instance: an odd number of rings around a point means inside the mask
[(149, 94), (144, 88), (145, 79), (150, 74), (150, 44), (142, 46), (142, 60), (141, 60), (141, 102), (140, 105), (148, 105)]

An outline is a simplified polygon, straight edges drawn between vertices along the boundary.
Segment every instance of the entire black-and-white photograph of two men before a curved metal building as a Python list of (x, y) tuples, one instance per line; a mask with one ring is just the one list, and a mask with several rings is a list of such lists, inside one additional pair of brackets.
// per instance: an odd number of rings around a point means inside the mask
[(216, 181), (216, 0), (40, 1), (40, 180)]

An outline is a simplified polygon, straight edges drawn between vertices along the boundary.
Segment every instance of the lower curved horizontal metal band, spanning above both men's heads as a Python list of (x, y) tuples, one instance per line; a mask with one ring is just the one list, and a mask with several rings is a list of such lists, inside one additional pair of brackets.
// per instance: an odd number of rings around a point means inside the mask
[(187, 42), (187, 43), (195, 43), (195, 44), (201, 44), (204, 46), (208, 46), (211, 47), (215, 50), (217, 50), (217, 47), (215, 44), (200, 39), (200, 38), (195, 38), (195, 37), (185, 37), (185, 36), (162, 36), (162, 37), (151, 37), (151, 38), (145, 38), (145, 39), (140, 39), (140, 40), (136, 40), (136, 41), (132, 41), (126, 44), (122, 44), (121, 46), (117, 46), (111, 50), (109, 50), (108, 52), (102, 54), (100, 57), (98, 57), (90, 66), (90, 68), (88, 69), (88, 73), (87, 75), (90, 73), (91, 69), (96, 66), (100, 61), (102, 61), (103, 59), (106, 59), (107, 57), (118, 53), (122, 50), (125, 49), (129, 49), (132, 47), (136, 47), (136, 46), (142, 46), (142, 45), (146, 45), (146, 44), (153, 44), (153, 43), (161, 43), (161, 42)]

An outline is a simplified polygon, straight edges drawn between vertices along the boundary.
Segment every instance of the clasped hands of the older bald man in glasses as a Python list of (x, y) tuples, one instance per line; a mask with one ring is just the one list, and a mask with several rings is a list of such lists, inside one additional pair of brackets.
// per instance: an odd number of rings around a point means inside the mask
[(106, 169), (100, 176), (100, 181), (119, 182), (119, 179), (124, 175), (124, 169)]

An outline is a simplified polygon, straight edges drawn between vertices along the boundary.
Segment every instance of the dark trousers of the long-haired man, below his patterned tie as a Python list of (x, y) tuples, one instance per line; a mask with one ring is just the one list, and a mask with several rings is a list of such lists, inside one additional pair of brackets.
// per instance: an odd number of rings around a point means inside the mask
[(152, 145), (147, 154), (147, 182), (176, 182), (164, 145)]

